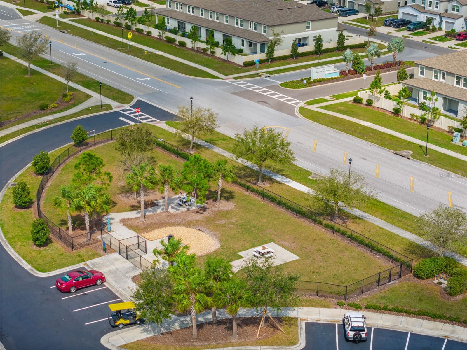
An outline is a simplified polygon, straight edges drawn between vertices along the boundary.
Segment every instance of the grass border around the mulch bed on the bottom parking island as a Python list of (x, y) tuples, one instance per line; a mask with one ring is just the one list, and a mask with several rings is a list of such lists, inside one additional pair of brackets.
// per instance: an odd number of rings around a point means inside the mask
[[(266, 321), (265, 321), (266, 322)], [(259, 326), (259, 323), (258, 323)], [(240, 326), (239, 326), (240, 327)], [(285, 334), (276, 331), (276, 334), (269, 336), (265, 339), (249, 340), (232, 343), (217, 343), (217, 344), (206, 344), (206, 345), (193, 345), (193, 346), (180, 346), (180, 345), (160, 345), (158, 344), (158, 336), (151, 336), (146, 339), (137, 340), (132, 343), (121, 345), (120, 347), (128, 350), (202, 350), (202, 349), (216, 349), (216, 348), (227, 348), (236, 346), (294, 346), (298, 343), (298, 324), (297, 318), (295, 317), (283, 317), (281, 328)], [(239, 334), (241, 334), (241, 327), (239, 328)]]

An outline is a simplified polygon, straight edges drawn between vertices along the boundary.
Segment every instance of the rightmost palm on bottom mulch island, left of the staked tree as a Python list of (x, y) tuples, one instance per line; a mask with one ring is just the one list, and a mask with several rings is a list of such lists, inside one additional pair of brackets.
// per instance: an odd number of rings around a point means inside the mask
[(227, 314), (232, 316), (232, 338), (237, 338), (237, 315), (240, 308), (251, 306), (252, 294), (247, 282), (239, 278), (220, 282), (214, 292), (214, 302), (219, 307), (226, 307)]

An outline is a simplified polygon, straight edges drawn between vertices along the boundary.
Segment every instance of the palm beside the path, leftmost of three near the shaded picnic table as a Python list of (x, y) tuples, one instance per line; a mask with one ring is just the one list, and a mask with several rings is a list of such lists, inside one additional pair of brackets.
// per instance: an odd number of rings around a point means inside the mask
[(144, 192), (146, 189), (155, 189), (157, 184), (156, 169), (149, 163), (142, 163), (132, 167), (131, 173), (125, 174), (125, 184), (131, 186), (133, 192), (140, 193), (141, 221), (144, 221)]

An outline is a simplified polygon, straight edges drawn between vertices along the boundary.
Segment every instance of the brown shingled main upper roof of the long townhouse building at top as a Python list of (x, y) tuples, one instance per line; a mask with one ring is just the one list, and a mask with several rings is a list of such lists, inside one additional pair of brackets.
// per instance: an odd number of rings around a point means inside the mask
[[(316, 5), (282, 0), (181, 0), (184, 5), (204, 8), (220, 14), (267, 26), (336, 18)], [(172, 5), (173, 6), (173, 5)]]

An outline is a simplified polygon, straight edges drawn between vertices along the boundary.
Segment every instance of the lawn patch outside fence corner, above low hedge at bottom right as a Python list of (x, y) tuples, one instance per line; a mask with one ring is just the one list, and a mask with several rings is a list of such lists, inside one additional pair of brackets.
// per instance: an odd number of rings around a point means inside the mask
[[(446, 300), (444, 290), (436, 285), (415, 282), (399, 282), (395, 286), (360, 299), (362, 305), (378, 304), (398, 306), (412, 310), (424, 310), (450, 316), (467, 317), (467, 296), (458, 300)], [(369, 310), (371, 311), (371, 310)]]

